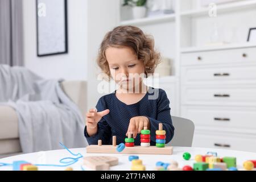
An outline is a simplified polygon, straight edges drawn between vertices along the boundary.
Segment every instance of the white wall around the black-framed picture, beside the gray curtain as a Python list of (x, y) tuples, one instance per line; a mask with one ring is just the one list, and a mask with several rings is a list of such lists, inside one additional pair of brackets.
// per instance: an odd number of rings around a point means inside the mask
[(23, 0), (24, 64), (45, 78), (87, 80), (87, 1), (68, 0), (68, 54), (36, 56), (36, 1)]

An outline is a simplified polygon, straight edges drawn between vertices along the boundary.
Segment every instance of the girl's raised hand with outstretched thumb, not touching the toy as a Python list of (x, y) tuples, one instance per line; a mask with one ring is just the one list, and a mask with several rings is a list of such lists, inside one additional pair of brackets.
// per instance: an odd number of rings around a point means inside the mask
[(90, 129), (95, 129), (97, 123), (101, 120), (104, 115), (109, 114), (109, 109), (106, 109), (101, 112), (97, 112), (97, 109), (90, 109), (88, 113), (86, 113), (86, 126)]

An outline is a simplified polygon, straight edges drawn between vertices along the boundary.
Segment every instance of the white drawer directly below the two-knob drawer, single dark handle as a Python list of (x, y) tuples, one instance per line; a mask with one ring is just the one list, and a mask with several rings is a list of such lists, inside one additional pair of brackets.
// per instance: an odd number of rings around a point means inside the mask
[(255, 66), (184, 67), (181, 69), (183, 84), (239, 84), (256, 82)]

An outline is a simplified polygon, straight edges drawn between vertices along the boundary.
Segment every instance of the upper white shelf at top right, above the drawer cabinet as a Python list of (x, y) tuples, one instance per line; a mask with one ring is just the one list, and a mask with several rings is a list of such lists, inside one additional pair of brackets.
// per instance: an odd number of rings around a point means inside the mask
[[(218, 13), (226, 13), (228, 11), (240, 11), (243, 9), (251, 9), (256, 7), (256, 1), (241, 1), (241, 2), (234, 2), (234, 3), (227, 3), (225, 5), (217, 5), (217, 14)], [(209, 16), (208, 15), (208, 8), (203, 8), (200, 10), (189, 10), (183, 11), (180, 13), (181, 16)]]

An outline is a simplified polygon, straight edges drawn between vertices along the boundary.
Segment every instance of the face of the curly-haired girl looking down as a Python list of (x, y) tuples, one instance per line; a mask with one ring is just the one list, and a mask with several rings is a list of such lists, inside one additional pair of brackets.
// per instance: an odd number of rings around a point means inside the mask
[(109, 47), (105, 51), (106, 59), (109, 64), (110, 75), (122, 89), (138, 88), (142, 82), (141, 74), (145, 68), (143, 61), (138, 60), (137, 56), (129, 47)]

